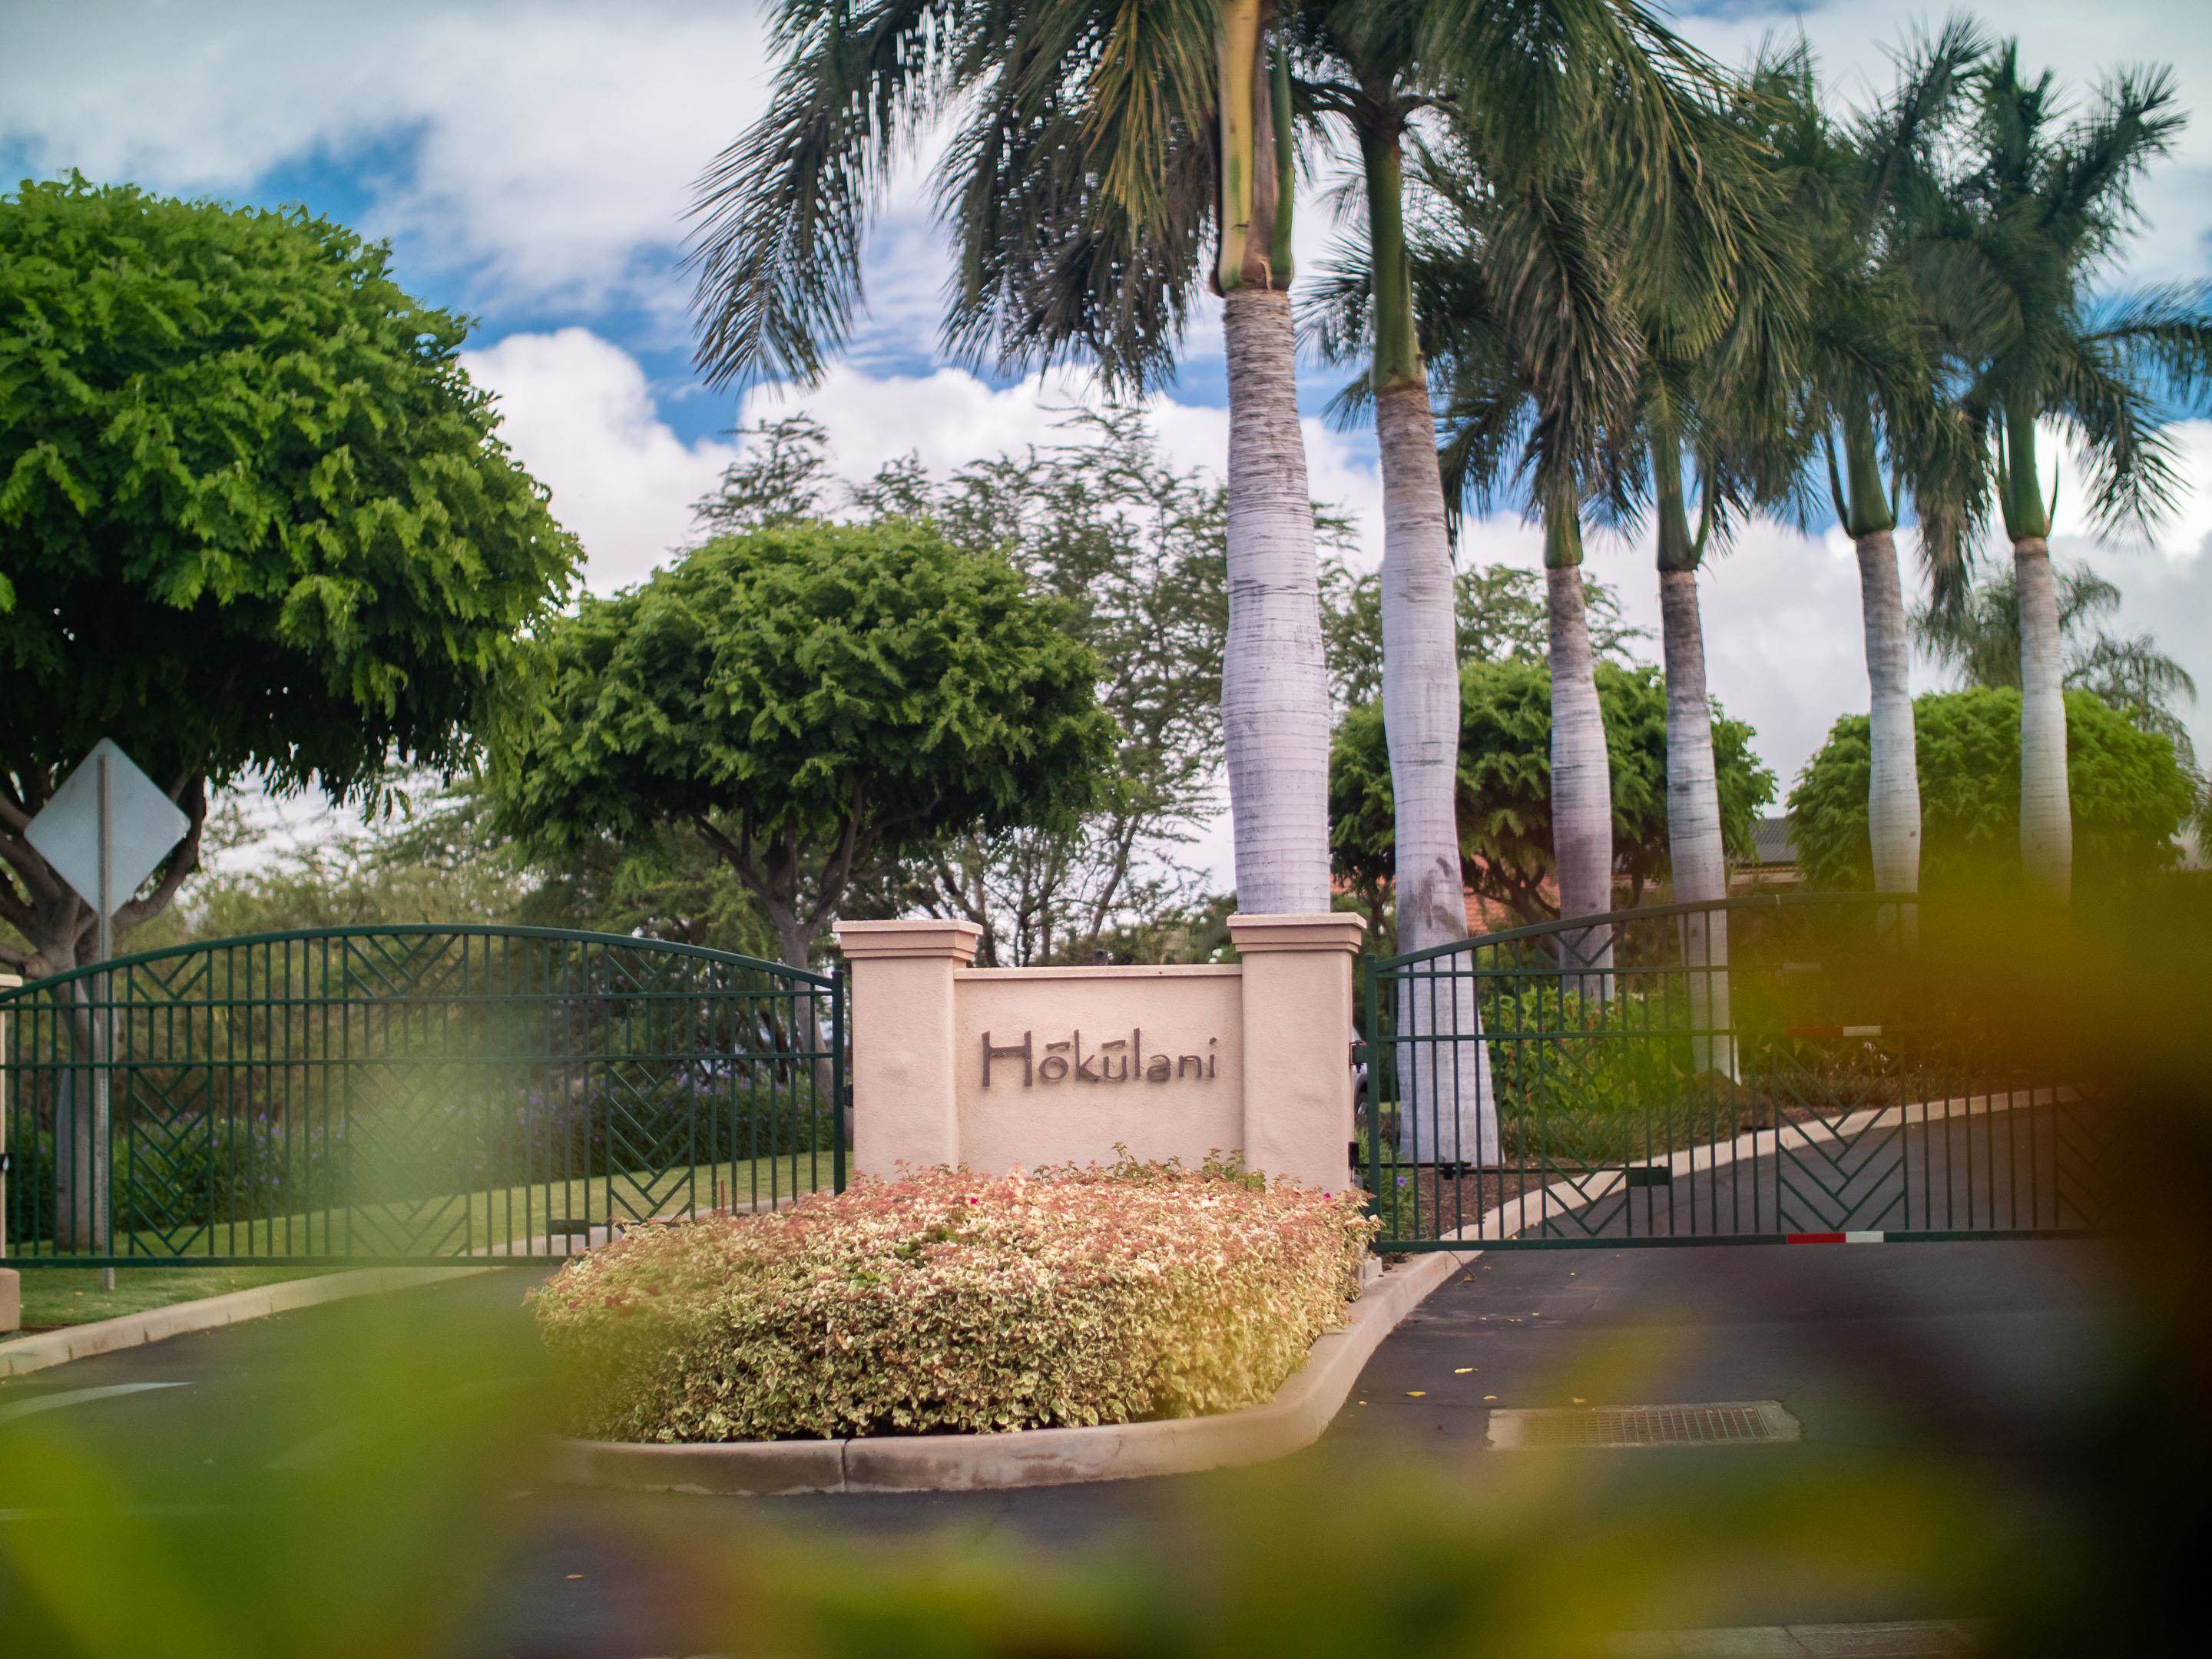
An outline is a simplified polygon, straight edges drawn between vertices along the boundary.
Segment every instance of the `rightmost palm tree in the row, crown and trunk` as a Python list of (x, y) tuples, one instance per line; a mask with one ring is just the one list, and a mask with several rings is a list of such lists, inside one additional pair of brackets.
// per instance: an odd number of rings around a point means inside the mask
[[(2031, 885), (2073, 883), (2066, 794), (2066, 661), (2051, 573), (2055, 491), (2037, 431), (2051, 425), (2088, 476), (2099, 529), (2150, 533), (2179, 476), (2170, 407), (2212, 385), (2212, 307), (2201, 288), (2099, 301), (2095, 281), (2135, 221), (2135, 184), (2181, 131), (2163, 69), (2124, 73), (2086, 117), (2057, 126), (2048, 73), (2024, 80), (2017, 44), (1973, 77), (1973, 164), (1909, 204), (1916, 283), (1953, 330), (1960, 409), (1986, 438), (1986, 473), (2013, 544), (2020, 595), (2020, 854)], [(1922, 515), (1927, 518), (1927, 515)], [(1958, 515), (1933, 549), (1938, 602), (1964, 568)]]

